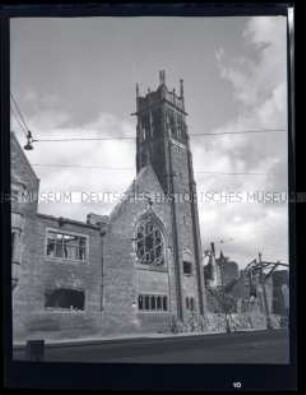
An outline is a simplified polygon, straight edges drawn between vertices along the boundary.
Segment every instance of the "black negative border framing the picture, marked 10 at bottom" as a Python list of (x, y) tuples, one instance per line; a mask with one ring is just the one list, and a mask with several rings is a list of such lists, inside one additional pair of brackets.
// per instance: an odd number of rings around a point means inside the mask
[[(10, 192), (9, 20), (14, 17), (90, 16), (287, 16), (288, 2), (263, 4), (91, 4), (6, 6), (1, 10), (1, 196)], [(287, 30), (289, 92), (289, 192), (295, 194), (292, 33)], [(290, 43), (290, 45), (289, 45)], [(289, 49), (288, 49), (289, 48)], [(21, 362), (12, 360), (10, 201), (1, 202), (3, 351), (6, 388), (116, 390), (294, 390), (297, 387), (296, 201), (289, 204), (290, 364), (142, 365)]]

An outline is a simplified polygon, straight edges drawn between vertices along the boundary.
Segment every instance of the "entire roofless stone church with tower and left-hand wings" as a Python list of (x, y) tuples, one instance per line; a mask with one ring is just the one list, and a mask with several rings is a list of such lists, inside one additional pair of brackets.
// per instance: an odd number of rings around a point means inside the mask
[(109, 216), (39, 213), (39, 180), (11, 133), (15, 339), (162, 332), (204, 317), (183, 81), (176, 93), (159, 77), (155, 91), (136, 88), (137, 175)]

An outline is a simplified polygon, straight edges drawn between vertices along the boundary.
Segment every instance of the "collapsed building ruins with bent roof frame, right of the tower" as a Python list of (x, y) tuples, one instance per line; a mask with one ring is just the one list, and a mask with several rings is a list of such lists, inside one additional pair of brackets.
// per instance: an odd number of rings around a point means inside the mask
[(240, 314), (258, 311), (262, 314), (288, 315), (287, 270), (272, 271), (261, 279), (259, 272), (239, 271), (238, 264), (225, 257), (222, 251), (219, 258), (215, 258), (214, 243), (211, 243), (206, 255), (209, 257), (204, 266), (208, 311), (218, 313), (227, 310)]

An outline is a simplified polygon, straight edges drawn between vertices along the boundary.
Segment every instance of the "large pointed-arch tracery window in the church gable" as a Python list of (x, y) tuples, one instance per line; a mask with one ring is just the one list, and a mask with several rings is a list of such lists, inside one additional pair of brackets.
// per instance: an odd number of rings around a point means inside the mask
[(140, 263), (164, 264), (164, 240), (154, 217), (142, 219), (136, 229), (136, 253)]

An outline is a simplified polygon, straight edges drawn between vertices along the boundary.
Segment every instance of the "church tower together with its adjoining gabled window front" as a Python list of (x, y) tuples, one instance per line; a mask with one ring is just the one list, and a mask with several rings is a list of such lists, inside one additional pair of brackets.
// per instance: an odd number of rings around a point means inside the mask
[(188, 323), (205, 310), (183, 81), (179, 95), (169, 91), (161, 71), (157, 90), (137, 86), (136, 96), (137, 175), (103, 238), (105, 334), (167, 331), (173, 317)]

